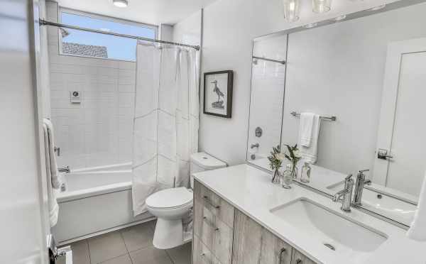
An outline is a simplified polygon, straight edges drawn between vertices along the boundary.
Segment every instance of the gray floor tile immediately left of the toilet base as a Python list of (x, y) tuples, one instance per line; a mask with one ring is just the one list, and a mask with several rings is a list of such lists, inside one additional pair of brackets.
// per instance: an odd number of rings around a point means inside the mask
[(124, 243), (126, 243), (129, 252), (153, 246), (153, 234), (149, 222), (121, 230), (121, 235), (123, 235)]

